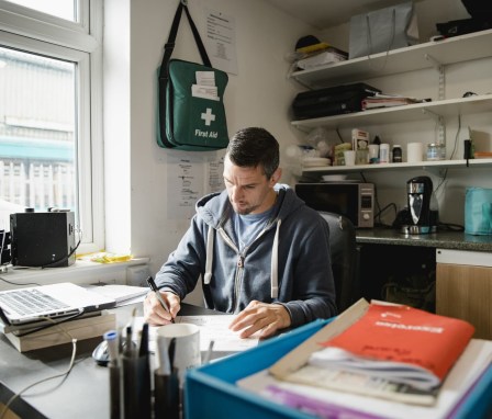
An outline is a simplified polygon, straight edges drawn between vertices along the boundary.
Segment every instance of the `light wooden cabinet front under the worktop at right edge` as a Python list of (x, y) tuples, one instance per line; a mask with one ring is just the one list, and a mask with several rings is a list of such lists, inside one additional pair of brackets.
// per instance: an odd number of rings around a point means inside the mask
[(437, 249), (436, 262), (436, 313), (492, 339), (492, 253)]

